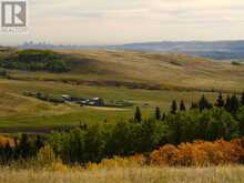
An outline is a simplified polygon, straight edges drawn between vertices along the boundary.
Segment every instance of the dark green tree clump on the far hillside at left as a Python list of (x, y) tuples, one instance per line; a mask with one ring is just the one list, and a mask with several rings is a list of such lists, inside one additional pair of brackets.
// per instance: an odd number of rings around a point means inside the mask
[(71, 63), (61, 54), (45, 50), (20, 50), (4, 55), (0, 68), (24, 71), (68, 72)]

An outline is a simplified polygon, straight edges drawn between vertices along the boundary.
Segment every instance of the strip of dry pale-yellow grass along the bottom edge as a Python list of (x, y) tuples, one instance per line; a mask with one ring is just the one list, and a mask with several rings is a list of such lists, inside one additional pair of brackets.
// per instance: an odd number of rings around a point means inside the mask
[(243, 183), (244, 166), (136, 167), (72, 172), (0, 171), (0, 183)]

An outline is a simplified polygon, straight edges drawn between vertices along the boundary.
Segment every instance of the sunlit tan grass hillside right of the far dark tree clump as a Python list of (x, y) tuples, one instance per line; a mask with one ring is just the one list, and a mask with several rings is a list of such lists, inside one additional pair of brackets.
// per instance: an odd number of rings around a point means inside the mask
[[(64, 51), (62, 51), (64, 52)], [(91, 60), (72, 74), (92, 75), (89, 80), (108, 84), (140, 84), (154, 89), (243, 90), (244, 65), (217, 62), (184, 54), (136, 51), (65, 51)], [(124, 83), (123, 83), (124, 82)], [(136, 88), (136, 84), (134, 85)]]

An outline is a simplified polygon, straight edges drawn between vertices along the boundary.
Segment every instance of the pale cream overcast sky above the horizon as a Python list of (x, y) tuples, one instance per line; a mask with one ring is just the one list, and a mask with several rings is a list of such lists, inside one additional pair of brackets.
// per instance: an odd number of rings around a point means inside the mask
[(0, 44), (244, 40), (244, 0), (29, 0), (29, 32)]

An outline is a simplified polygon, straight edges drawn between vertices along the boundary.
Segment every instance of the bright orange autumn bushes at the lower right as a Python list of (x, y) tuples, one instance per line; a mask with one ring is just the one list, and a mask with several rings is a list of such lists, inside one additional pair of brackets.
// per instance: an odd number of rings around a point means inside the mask
[(244, 138), (231, 142), (195, 141), (179, 146), (164, 145), (150, 155), (154, 165), (206, 166), (244, 162)]

